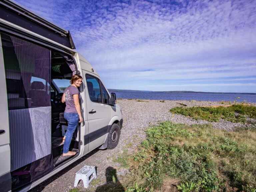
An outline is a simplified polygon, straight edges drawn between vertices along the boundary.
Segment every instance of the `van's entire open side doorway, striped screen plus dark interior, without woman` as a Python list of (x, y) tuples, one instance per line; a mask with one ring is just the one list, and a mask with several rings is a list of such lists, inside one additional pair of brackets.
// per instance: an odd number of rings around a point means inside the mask
[[(61, 51), (1, 33), (11, 148), (12, 190), (46, 175), (75, 156), (63, 157), (64, 89), (76, 73)], [(79, 126), (70, 149), (79, 153)]]

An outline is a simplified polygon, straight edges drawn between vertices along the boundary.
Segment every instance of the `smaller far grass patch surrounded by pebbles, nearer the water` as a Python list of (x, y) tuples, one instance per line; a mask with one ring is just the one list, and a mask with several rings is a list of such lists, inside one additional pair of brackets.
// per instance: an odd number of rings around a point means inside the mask
[(231, 122), (246, 122), (246, 117), (256, 118), (256, 107), (251, 105), (235, 104), (229, 107), (175, 107), (170, 109), (172, 113), (178, 113), (193, 119), (218, 122), (225, 119)]

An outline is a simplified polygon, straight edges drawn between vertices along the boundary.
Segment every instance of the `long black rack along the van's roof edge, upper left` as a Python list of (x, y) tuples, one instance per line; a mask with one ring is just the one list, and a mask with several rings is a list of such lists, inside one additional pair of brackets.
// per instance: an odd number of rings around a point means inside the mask
[(69, 31), (50, 23), (9, 0), (0, 0), (0, 18), (42, 35), (71, 49), (75, 49)]

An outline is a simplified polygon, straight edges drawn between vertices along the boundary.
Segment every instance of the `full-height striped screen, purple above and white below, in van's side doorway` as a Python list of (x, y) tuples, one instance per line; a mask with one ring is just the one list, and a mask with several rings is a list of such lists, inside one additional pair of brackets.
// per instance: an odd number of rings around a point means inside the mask
[(51, 51), (4, 33), (1, 33), (1, 39), (8, 98), (12, 177), (19, 180), (19, 177), (25, 175), (24, 178), (29, 179), (24, 182), (29, 183), (52, 169)]

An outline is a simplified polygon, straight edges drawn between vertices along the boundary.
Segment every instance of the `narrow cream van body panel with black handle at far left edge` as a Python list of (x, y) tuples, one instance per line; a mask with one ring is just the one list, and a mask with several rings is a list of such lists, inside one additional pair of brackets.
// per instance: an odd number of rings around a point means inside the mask
[(0, 37), (0, 191), (11, 191), (11, 155), (3, 49)]

